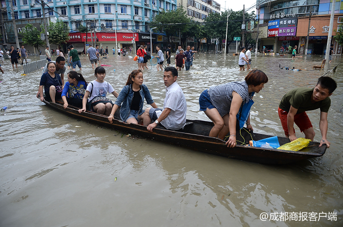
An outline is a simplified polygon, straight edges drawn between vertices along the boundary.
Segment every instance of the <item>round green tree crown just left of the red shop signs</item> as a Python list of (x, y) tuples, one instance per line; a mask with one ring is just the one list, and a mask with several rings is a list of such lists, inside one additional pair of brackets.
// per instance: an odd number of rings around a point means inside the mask
[(57, 20), (55, 23), (50, 22), (48, 31), (49, 42), (52, 44), (60, 46), (69, 40), (69, 27), (62, 20)]

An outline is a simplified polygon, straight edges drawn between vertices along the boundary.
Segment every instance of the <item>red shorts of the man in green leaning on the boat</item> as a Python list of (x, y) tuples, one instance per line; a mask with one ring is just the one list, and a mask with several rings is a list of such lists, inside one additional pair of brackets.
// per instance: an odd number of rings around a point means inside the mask
[[(277, 112), (279, 113), (281, 125), (282, 125), (283, 130), (285, 131), (285, 135), (288, 136), (289, 135), (288, 127), (287, 127), (288, 112), (281, 110), (280, 107), (277, 109)], [(309, 128), (313, 128), (311, 121), (309, 120), (309, 116), (306, 114), (306, 112), (303, 112), (301, 114), (295, 114), (294, 123), (299, 127), (301, 132), (308, 130)], [(294, 133), (295, 133), (295, 130), (294, 130)]]

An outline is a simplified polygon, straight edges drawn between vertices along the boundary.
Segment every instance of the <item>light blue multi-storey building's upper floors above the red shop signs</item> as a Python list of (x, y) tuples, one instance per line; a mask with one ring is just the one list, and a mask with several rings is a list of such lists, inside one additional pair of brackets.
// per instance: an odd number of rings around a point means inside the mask
[[(4, 1), (4, 0), (1, 0)], [(12, 0), (15, 19), (42, 17), (39, 0)], [(176, 9), (176, 0), (44, 0), (45, 13), (65, 21), (71, 31), (80, 25), (98, 31), (135, 31), (147, 32), (152, 18), (160, 10)], [(8, 18), (11, 9), (7, 4)]]

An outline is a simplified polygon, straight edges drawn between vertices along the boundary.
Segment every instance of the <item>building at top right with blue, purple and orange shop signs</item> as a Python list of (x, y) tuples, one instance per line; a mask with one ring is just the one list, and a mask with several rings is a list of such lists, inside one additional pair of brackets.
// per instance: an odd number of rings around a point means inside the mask
[[(305, 53), (305, 44), (309, 32), (308, 54), (325, 54), (332, 0), (271, 0), (259, 4), (260, 51), (263, 46), (279, 52), (291, 46), (298, 46), (298, 53)], [(259, 5), (258, 5), (259, 4)], [(310, 29), (309, 15), (311, 13)], [(333, 29), (338, 30), (343, 18), (343, 3), (335, 2)], [(308, 31), (309, 30), (309, 31)], [(336, 35), (333, 31), (332, 36)], [(342, 46), (332, 39), (334, 54), (341, 55)]]

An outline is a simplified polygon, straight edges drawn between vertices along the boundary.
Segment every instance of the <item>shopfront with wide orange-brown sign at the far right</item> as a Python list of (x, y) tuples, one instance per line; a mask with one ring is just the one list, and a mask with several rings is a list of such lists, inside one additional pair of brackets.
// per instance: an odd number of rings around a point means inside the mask
[[(338, 30), (340, 26), (343, 14), (335, 14), (333, 20), (333, 31), (331, 43), (334, 44), (333, 55), (342, 54), (342, 45), (339, 45), (333, 38), (336, 35), (334, 30)], [(304, 48), (299, 48), (299, 53), (305, 54), (305, 43), (309, 28), (309, 47), (308, 54), (318, 54), (322, 55), (326, 52), (327, 35), (329, 32), (330, 16), (316, 15), (311, 16), (311, 21), (309, 25), (309, 17), (299, 18), (296, 36), (300, 36), (300, 45)]]

